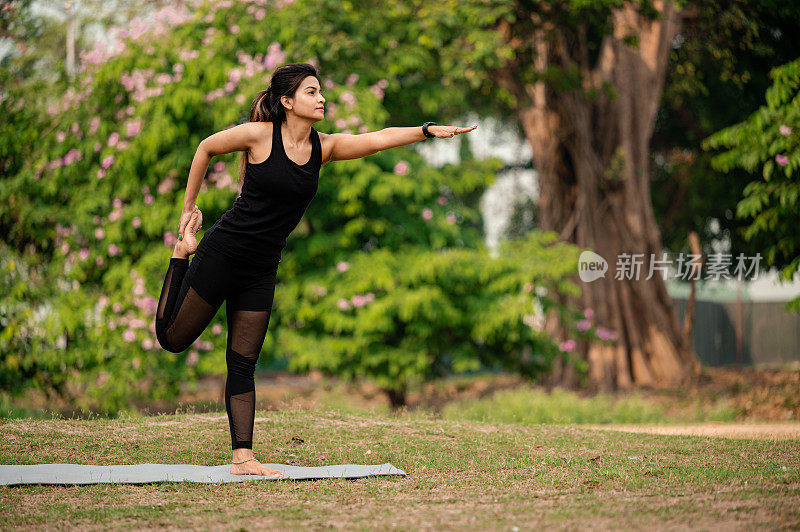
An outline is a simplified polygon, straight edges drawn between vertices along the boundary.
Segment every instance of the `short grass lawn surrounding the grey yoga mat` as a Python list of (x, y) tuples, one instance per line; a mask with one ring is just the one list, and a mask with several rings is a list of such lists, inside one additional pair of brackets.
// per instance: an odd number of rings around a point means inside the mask
[[(296, 444), (298, 436), (303, 443)], [(633, 434), (407, 413), (257, 412), (264, 463), (406, 477), (0, 488), (0, 528), (800, 527), (800, 440)], [(225, 413), (0, 419), (0, 463), (230, 460)]]

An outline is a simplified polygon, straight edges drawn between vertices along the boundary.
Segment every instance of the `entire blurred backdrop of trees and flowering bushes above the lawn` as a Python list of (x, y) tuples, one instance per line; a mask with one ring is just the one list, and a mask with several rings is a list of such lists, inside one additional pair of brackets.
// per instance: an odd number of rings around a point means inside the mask
[[(153, 328), (189, 166), (309, 62), (321, 132), (478, 128), (321, 170), (258, 408), (798, 420), (799, 22), (766, 0), (4, 2), (0, 415), (224, 409), (225, 306), (181, 354)], [(204, 227), (238, 162), (209, 166)]]

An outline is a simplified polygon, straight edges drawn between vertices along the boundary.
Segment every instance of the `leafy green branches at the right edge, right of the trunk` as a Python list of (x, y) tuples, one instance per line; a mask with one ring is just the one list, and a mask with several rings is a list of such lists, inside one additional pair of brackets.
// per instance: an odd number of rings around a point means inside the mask
[[(702, 147), (727, 148), (712, 159), (717, 170), (739, 167), (760, 173), (760, 179), (745, 187), (736, 215), (752, 220), (745, 238), (768, 241), (767, 263), (782, 268), (782, 278), (791, 280), (800, 268), (800, 58), (773, 69), (771, 77), (766, 105), (708, 137)], [(800, 298), (788, 308), (800, 312)]]

